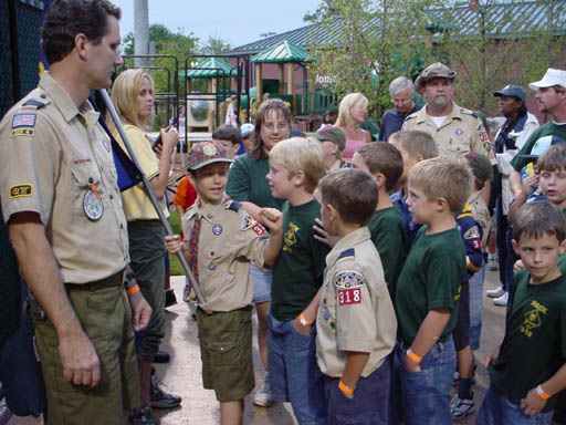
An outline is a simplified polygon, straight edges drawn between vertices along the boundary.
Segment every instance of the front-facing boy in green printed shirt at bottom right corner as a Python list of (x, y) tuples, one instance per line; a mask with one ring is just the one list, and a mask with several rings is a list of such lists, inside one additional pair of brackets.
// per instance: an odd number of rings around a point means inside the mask
[(501, 346), (488, 355), (491, 385), (476, 424), (549, 424), (566, 387), (566, 247), (556, 205), (526, 204), (513, 225), (513, 249), (526, 268), (513, 277)]

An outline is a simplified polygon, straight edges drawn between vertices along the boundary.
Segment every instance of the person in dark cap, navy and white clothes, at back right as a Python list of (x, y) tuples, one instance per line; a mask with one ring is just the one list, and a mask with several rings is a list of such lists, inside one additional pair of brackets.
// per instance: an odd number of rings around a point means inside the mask
[(527, 94), (522, 86), (507, 85), (494, 92), (493, 95), (497, 97), (499, 110), (505, 117), (505, 123), (495, 135), (494, 159), (496, 167), (492, 185), (493, 196), (496, 199), (496, 245), (501, 286), (486, 293), (488, 297), (495, 299), (496, 305), (506, 305), (506, 291), (513, 279), (513, 262), (516, 260), (511, 246), (513, 229), (507, 221), (509, 207), (515, 198), (509, 184), (509, 176), (513, 169), (511, 160), (531, 134), (538, 128), (538, 120), (526, 111)]

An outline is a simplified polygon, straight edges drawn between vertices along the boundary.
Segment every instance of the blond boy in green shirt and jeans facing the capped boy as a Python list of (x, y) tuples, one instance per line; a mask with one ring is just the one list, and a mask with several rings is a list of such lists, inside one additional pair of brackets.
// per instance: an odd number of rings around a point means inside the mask
[(321, 204), (313, 193), (323, 174), (323, 149), (314, 138), (294, 137), (270, 152), (268, 182), (283, 204), (283, 243), (273, 266), (269, 313), (271, 393), (291, 402), (298, 424), (325, 424), (323, 375), (316, 364), (316, 297), (328, 248), (314, 239)]

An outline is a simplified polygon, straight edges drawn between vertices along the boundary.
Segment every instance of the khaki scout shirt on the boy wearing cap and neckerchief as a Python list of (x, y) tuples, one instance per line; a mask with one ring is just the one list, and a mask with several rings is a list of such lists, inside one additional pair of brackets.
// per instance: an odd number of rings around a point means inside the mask
[(250, 305), (253, 283), (250, 261), (263, 267), (268, 232), (253, 220), (237, 201), (206, 204), (200, 199), (182, 216), (182, 231), (188, 240), (195, 216), (200, 215), (198, 243), (199, 283), (207, 311), (232, 311)]

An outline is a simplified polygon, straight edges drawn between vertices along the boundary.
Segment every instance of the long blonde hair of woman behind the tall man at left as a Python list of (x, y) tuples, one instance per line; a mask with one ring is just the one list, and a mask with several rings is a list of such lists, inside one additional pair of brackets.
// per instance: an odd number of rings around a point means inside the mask
[[(139, 121), (138, 114), (139, 105), (137, 97), (144, 79), (149, 80), (153, 89), (154, 80), (145, 70), (126, 70), (122, 72), (114, 81), (111, 97), (112, 103), (114, 103), (116, 112), (124, 124), (132, 124), (143, 131), (149, 131), (151, 128), (153, 114), (148, 117), (146, 123)], [(106, 122), (111, 126), (111, 129), (114, 131), (115, 126), (112, 120), (108, 117)]]

